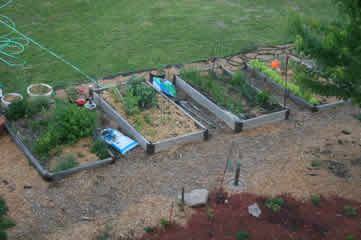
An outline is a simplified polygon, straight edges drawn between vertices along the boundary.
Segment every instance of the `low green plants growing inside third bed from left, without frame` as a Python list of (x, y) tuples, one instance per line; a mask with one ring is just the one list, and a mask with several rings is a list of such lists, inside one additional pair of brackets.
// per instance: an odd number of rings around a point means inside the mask
[(282, 110), (268, 92), (252, 88), (244, 72), (237, 71), (232, 78), (197, 69), (183, 70), (180, 77), (219, 106), (242, 119)]

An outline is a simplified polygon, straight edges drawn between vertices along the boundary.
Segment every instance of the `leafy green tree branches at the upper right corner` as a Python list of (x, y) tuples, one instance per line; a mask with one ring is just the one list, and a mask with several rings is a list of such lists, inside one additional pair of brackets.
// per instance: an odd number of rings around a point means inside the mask
[(339, 15), (327, 24), (290, 11), (288, 30), (296, 39), (297, 52), (317, 66), (297, 70), (297, 74), (303, 87), (361, 106), (361, 2), (333, 2)]

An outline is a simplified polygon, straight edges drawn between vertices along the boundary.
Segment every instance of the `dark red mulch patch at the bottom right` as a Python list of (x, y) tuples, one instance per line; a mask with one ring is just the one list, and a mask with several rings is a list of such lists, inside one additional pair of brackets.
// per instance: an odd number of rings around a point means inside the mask
[[(325, 199), (315, 206), (300, 202), (290, 195), (278, 196), (284, 199), (279, 212), (264, 206), (266, 197), (240, 193), (227, 197), (228, 204), (215, 204), (215, 193), (210, 196), (210, 207), (197, 209), (186, 227), (171, 224), (165, 231), (156, 228), (146, 233), (147, 240), (209, 240), (236, 239), (236, 232), (249, 234), (250, 240), (344, 240), (347, 235), (361, 239), (361, 204), (339, 197)], [(258, 204), (262, 214), (259, 218), (248, 213), (248, 206)], [(357, 216), (343, 216), (345, 205), (357, 209)], [(208, 210), (207, 210), (208, 209)], [(213, 223), (207, 211), (212, 209)]]

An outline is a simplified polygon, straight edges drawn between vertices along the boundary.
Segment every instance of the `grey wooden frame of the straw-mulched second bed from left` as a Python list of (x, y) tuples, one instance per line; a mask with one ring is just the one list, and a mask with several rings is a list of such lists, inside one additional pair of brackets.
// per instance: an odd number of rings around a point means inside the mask
[[(94, 89), (93, 91), (93, 98), (97, 106), (99, 106), (102, 109), (102, 111), (105, 114), (107, 114), (108, 117), (112, 119), (126, 135), (132, 137), (149, 154), (153, 154), (160, 151), (166, 151), (170, 147), (175, 145), (198, 142), (208, 139), (208, 129), (203, 124), (201, 124), (199, 121), (194, 119), (190, 114), (185, 112), (170, 98), (157, 91), (158, 94), (163, 96), (168, 102), (174, 104), (179, 110), (181, 110), (185, 115), (187, 115), (190, 118), (190, 120), (193, 121), (194, 124), (196, 124), (196, 126), (199, 127), (201, 130), (195, 133), (185, 134), (183, 136), (177, 136), (165, 140), (160, 140), (157, 142), (151, 142), (147, 140), (142, 134), (140, 134), (126, 119), (124, 119), (117, 111), (115, 111), (112, 108), (112, 106), (109, 103), (107, 103), (98, 94), (104, 90), (106, 90), (106, 88), (98, 88), (98, 89)], [(154, 90), (156, 91), (156, 89)]]

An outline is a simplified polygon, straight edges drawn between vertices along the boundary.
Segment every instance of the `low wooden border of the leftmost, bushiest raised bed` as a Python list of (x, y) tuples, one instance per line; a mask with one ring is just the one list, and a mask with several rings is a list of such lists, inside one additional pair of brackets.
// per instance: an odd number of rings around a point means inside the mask
[(15, 134), (15, 132), (11, 129), (11, 127), (9, 126), (8, 123), (5, 123), (5, 129), (8, 131), (8, 133), (10, 134), (11, 138), (16, 143), (16, 145), (24, 152), (25, 156), (29, 159), (29, 162), (31, 163), (31, 165), (33, 165), (35, 167), (35, 169), (38, 171), (40, 176), (46, 181), (63, 178), (65, 176), (71, 175), (73, 173), (77, 173), (77, 172), (80, 172), (80, 171), (83, 171), (86, 169), (90, 169), (90, 168), (96, 168), (96, 167), (99, 167), (99, 166), (102, 166), (105, 164), (109, 164), (109, 163), (114, 163), (114, 161), (115, 161), (113, 153), (108, 150), (108, 153), (110, 155), (109, 158), (98, 160), (98, 161), (92, 162), (92, 163), (83, 164), (83, 165), (80, 165), (77, 167), (69, 168), (69, 169), (66, 169), (66, 170), (63, 170), (63, 171), (60, 171), (57, 173), (52, 173), (52, 172), (45, 170), (40, 165), (39, 161), (34, 157), (34, 155), (25, 146), (25, 144), (21, 141), (21, 139)]

